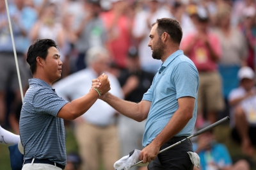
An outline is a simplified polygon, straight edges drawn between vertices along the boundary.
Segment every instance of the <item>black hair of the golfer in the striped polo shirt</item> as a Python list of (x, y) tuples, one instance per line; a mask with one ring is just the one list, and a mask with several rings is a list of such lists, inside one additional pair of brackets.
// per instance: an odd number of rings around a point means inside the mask
[(27, 54), (27, 62), (30, 66), (32, 75), (36, 72), (36, 58), (40, 57), (45, 59), (50, 47), (58, 48), (54, 40), (51, 39), (37, 39), (32, 45), (30, 45)]

